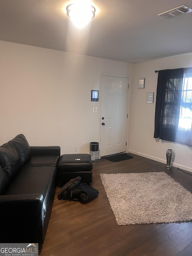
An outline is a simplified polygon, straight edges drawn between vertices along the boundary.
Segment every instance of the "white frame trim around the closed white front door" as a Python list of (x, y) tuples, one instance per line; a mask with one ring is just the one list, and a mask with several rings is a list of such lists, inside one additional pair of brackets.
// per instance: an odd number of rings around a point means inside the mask
[[(99, 111), (99, 144), (101, 145), (101, 81), (102, 81), (102, 76), (107, 76), (107, 77), (123, 77), (123, 78), (128, 78), (128, 106), (127, 106), (127, 113), (128, 113), (128, 118), (127, 118), (127, 131), (126, 131), (126, 141), (127, 141), (127, 145), (126, 145), (126, 153), (129, 153), (129, 121), (130, 121), (130, 100), (131, 100), (131, 77), (129, 77), (128, 75), (123, 75), (123, 74), (112, 74), (112, 73), (100, 73), (100, 98), (99, 98), (99, 107), (100, 107), (100, 111)], [(101, 158), (101, 153), (99, 150), (99, 158)]]

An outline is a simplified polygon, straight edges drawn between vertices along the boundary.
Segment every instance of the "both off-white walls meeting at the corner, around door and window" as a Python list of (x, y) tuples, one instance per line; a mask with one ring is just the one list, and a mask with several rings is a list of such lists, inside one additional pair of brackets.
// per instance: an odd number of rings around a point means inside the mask
[[(78, 153), (89, 153), (100, 129), (100, 102), (91, 102), (91, 89), (100, 90), (101, 73), (122, 74), (131, 77), (128, 151), (166, 163), (173, 149), (173, 165), (192, 170), (190, 147), (153, 138), (154, 71), (191, 67), (192, 54), (132, 65), (0, 41), (0, 56), (0, 145), (23, 133), (31, 146), (59, 145), (61, 154), (78, 146)], [(143, 77), (145, 88), (138, 89)], [(146, 103), (147, 92), (154, 92), (153, 104)]]

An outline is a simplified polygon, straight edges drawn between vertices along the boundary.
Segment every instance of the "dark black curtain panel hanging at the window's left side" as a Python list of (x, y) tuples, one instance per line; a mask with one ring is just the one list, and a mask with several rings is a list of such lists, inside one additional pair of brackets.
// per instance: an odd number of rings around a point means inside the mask
[(184, 69), (158, 72), (154, 138), (176, 141)]

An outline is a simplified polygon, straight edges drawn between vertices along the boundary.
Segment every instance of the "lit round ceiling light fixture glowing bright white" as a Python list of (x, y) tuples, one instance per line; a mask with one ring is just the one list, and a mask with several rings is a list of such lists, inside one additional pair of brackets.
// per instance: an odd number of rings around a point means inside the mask
[(74, 4), (67, 5), (67, 16), (72, 20), (73, 24), (78, 28), (83, 28), (87, 23), (95, 17), (95, 7), (90, 5), (88, 1), (76, 1)]

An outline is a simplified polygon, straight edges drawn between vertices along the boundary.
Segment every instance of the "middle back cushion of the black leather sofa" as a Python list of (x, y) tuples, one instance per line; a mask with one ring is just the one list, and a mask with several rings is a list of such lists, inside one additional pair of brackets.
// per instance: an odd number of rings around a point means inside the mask
[(9, 180), (15, 176), (21, 167), (19, 155), (12, 143), (8, 142), (0, 146), (0, 165)]

